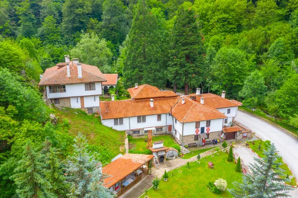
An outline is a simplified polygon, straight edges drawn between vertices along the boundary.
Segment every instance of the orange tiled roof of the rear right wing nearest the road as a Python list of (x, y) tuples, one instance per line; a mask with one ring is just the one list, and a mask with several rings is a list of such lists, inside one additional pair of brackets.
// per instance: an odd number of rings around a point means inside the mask
[[(221, 96), (212, 94), (212, 93), (204, 93), (200, 95), (196, 94), (190, 94), (188, 97), (196, 97), (196, 101), (201, 103), (201, 97), (204, 98), (204, 105), (208, 105), (210, 107), (213, 107), (215, 109), (225, 108), (225, 107), (236, 107), (241, 106), (242, 103), (236, 101), (236, 100), (228, 100), (226, 98), (222, 98)], [(236, 101), (236, 102), (234, 102)]]

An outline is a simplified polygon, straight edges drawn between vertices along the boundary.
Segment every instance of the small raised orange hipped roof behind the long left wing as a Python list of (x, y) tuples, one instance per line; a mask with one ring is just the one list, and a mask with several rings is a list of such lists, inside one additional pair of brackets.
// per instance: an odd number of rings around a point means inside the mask
[(133, 99), (160, 98), (177, 96), (173, 91), (160, 91), (157, 87), (142, 84), (138, 88), (127, 89)]

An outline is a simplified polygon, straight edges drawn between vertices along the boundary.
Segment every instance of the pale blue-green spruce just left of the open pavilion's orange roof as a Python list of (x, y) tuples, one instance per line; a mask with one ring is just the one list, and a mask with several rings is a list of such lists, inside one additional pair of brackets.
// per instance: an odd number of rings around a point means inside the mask
[(87, 151), (87, 140), (79, 132), (74, 139), (74, 155), (66, 164), (67, 181), (71, 191), (69, 198), (112, 198), (109, 190), (102, 186), (101, 163)]

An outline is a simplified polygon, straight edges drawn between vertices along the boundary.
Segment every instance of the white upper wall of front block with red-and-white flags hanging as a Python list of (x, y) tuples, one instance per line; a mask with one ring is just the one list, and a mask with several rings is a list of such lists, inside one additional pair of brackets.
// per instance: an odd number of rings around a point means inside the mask
[[(184, 130), (183, 130), (183, 135), (192, 135), (195, 134), (196, 132), (196, 128), (195, 128), (196, 124), (195, 122), (192, 123), (184, 123)], [(206, 121), (201, 121), (200, 122), (200, 130), (201, 127), (205, 127), (205, 133), (207, 133), (206, 131)], [(223, 119), (215, 119), (215, 120), (211, 120), (210, 122), (210, 131), (209, 132), (218, 132), (218, 131), (222, 131), (223, 130)], [(201, 131), (200, 131), (201, 133)]]

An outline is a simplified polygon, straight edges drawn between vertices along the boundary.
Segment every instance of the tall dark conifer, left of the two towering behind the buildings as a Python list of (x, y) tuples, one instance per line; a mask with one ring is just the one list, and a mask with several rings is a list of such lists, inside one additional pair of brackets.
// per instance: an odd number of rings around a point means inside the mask
[(128, 34), (123, 75), (125, 87), (134, 83), (162, 86), (161, 36), (156, 16), (148, 8), (146, 0), (140, 0)]

